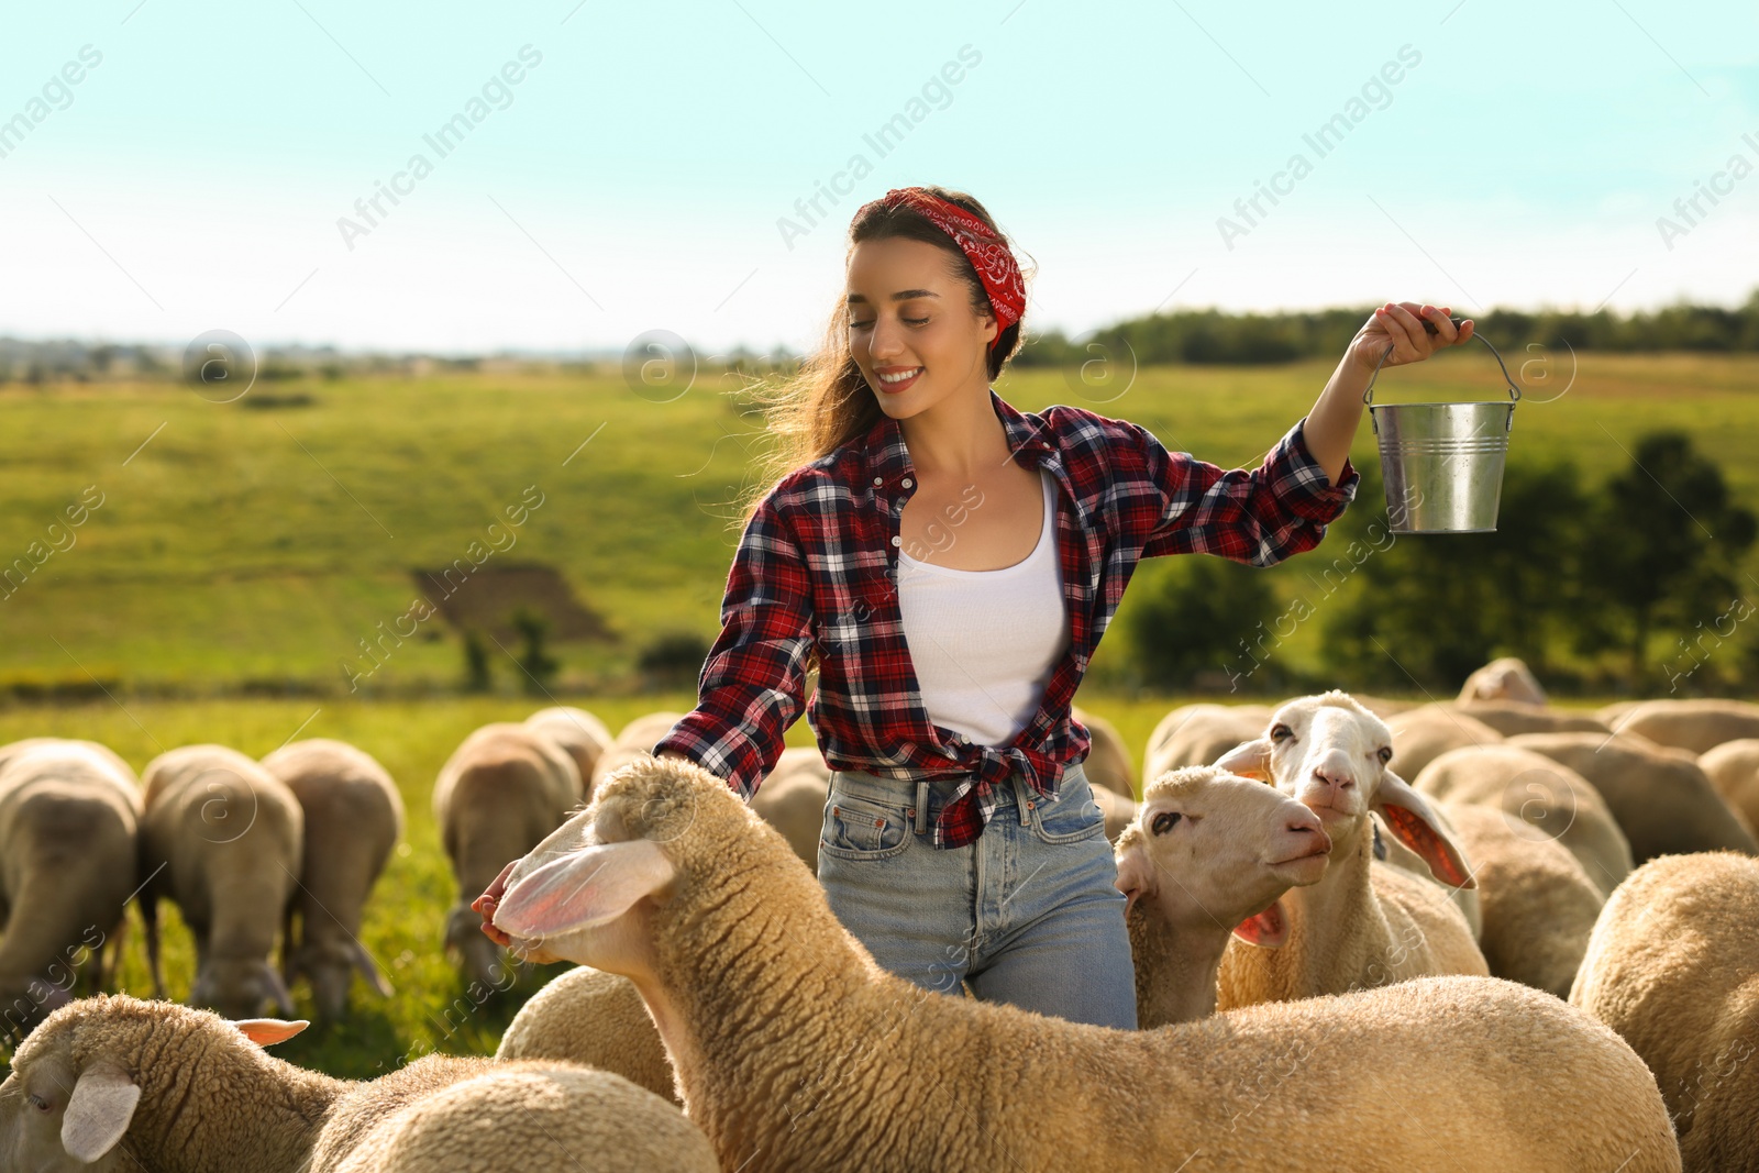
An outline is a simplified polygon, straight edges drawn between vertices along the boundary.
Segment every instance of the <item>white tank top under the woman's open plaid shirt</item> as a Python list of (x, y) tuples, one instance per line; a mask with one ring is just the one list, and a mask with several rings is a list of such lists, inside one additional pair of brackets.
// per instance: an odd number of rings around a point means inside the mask
[(1057, 478), (1040, 477), (1045, 521), (1024, 561), (953, 570), (899, 552), (904, 642), (929, 719), (980, 746), (1006, 746), (1025, 728), (1069, 645)]

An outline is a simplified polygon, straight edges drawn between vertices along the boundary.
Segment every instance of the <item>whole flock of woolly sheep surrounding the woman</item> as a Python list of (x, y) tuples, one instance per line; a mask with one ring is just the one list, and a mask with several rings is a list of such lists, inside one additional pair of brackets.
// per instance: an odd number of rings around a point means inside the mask
[[(449, 950), (500, 988), (487, 916), (579, 965), (493, 1059), (359, 1083), (273, 1059), (304, 1024), (259, 1015), (296, 980), (324, 1016), (355, 974), (389, 992), (359, 943), (403, 830), (376, 761), (190, 746), (137, 784), (93, 742), (0, 747), (0, 997), (35, 1027), (0, 1168), (1759, 1169), (1759, 705), (1571, 712), (1520, 661), (1446, 703), (1186, 705), (1140, 802), (1077, 710), (1140, 1031), (880, 969), (814, 878), (818, 751), (748, 805), (651, 756), (681, 716), (464, 739), (433, 793)], [(155, 994), (169, 897), (218, 1013), (72, 997), (134, 892)]]

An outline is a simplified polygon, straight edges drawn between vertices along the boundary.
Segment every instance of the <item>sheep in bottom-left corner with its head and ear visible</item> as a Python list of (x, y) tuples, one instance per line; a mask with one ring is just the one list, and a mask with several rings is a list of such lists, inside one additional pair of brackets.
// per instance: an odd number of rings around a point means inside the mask
[(563, 1062), (426, 1055), (355, 1083), (269, 1057), (304, 1022), (229, 1022), (127, 994), (62, 1006), (0, 1085), (0, 1168), (33, 1173), (334, 1173), (415, 1101), (485, 1073)]

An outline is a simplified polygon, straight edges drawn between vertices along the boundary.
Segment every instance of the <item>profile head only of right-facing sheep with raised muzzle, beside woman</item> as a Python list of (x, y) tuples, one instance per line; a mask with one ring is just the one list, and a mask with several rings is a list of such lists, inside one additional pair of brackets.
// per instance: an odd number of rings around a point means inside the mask
[(1177, 930), (1233, 925), (1254, 944), (1288, 934), (1279, 899), (1317, 883), (1332, 839), (1319, 816), (1263, 783), (1212, 765), (1170, 770), (1149, 783), (1119, 837), (1117, 886)]

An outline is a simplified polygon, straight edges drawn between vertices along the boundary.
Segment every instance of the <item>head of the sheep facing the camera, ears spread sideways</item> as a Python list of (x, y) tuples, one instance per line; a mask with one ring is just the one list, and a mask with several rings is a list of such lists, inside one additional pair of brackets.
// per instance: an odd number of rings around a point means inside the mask
[(1349, 693), (1332, 689), (1277, 707), (1263, 737), (1215, 761), (1219, 769), (1272, 783), (1314, 811), (1332, 837), (1333, 856), (1354, 855), (1369, 830), (1369, 812), (1455, 888), (1476, 886), (1460, 848), (1418, 791), (1386, 769), (1393, 737), (1386, 723)]

